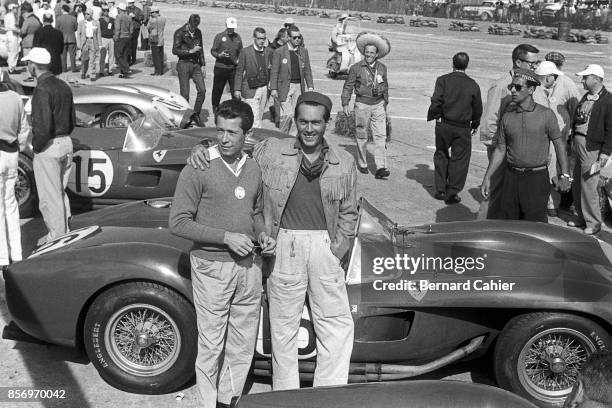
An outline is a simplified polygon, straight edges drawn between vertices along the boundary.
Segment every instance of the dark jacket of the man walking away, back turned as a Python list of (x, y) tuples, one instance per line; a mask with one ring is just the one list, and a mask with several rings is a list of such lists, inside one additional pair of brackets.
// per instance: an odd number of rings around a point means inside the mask
[(455, 71), (436, 79), (428, 121), (445, 119), (452, 125), (477, 129), (481, 115), (480, 87), (465, 72)]

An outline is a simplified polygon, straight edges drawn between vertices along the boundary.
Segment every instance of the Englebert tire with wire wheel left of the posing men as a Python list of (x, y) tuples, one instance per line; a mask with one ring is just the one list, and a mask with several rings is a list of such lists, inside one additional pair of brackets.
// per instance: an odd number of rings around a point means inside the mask
[[(160, 334), (165, 334), (163, 345)], [(120, 390), (166, 394), (194, 375), (195, 310), (164, 286), (130, 282), (102, 293), (87, 312), (83, 338), (100, 376)]]

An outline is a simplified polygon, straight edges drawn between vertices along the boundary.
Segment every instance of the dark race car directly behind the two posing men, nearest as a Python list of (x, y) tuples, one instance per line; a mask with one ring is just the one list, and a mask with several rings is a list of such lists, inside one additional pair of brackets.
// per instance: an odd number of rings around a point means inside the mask
[[(192, 243), (168, 230), (171, 205), (156, 199), (75, 216), (72, 232), (10, 265), (15, 327), (84, 347), (122, 390), (185, 384), (197, 353)], [(23, 236), (41, 236), (34, 225)], [(582, 362), (612, 347), (611, 258), (611, 245), (567, 228), (493, 220), (403, 227), (362, 198), (345, 265), (355, 322), (349, 380), (405, 379), (489, 355), (499, 386), (561, 406)], [(256, 375), (271, 373), (267, 310), (264, 297)], [(298, 344), (301, 376), (312, 379), (308, 308)]]

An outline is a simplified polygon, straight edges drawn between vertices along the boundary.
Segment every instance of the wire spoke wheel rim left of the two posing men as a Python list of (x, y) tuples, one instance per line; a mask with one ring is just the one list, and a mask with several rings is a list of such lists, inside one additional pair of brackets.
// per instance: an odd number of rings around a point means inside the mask
[(104, 341), (113, 362), (139, 376), (165, 372), (175, 363), (181, 348), (176, 322), (162, 309), (143, 303), (114, 313)]

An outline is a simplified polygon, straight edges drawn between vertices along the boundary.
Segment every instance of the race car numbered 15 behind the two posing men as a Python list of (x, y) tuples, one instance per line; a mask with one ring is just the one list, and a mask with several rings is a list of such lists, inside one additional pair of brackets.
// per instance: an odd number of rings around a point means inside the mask
[[(274, 130), (254, 129), (245, 149), (267, 137), (289, 137)], [(92, 208), (174, 194), (189, 150), (214, 144), (215, 128), (168, 129), (159, 114), (141, 116), (127, 128), (76, 127), (71, 134), (74, 155), (68, 182), (70, 201)], [(15, 193), (22, 218), (36, 206), (33, 152), (19, 155)]]

